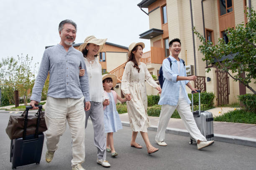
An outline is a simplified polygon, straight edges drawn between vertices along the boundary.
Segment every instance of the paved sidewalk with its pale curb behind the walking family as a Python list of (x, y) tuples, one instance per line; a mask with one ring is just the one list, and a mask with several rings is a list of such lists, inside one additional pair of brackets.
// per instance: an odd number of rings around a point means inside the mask
[[(124, 126), (130, 126), (128, 113), (119, 114), (119, 116)], [(149, 116), (149, 119), (151, 127), (148, 130), (157, 131), (159, 117)], [(256, 147), (256, 125), (214, 121), (213, 127), (216, 141)], [(175, 118), (170, 118), (166, 133), (189, 136), (183, 121)], [(189, 138), (187, 141), (189, 142)]]

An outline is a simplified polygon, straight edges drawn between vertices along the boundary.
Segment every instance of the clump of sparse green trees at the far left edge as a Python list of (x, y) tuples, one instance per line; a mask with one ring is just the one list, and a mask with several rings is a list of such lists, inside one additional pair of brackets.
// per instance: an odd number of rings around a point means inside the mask
[[(3, 58), (0, 62), (0, 87), (3, 96), (9, 100), (9, 104), (14, 104), (14, 90), (19, 91), (19, 96), (23, 97), (24, 104), (27, 105), (35, 81), (35, 70), (38, 63), (31, 67), (33, 57), (23, 57), (18, 55), (18, 60), (14, 57)], [(34, 71), (32, 72), (32, 69)]]

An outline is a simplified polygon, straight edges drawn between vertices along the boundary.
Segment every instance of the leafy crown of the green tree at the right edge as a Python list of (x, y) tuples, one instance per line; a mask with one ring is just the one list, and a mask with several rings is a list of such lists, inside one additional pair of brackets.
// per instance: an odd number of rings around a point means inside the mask
[[(250, 82), (256, 83), (256, 13), (249, 8), (247, 11), (251, 12), (246, 13), (246, 16), (250, 16), (246, 25), (242, 23), (236, 25), (235, 29), (226, 30), (227, 44), (223, 38), (219, 38), (218, 44), (212, 45), (212, 42), (206, 41), (195, 28), (194, 32), (202, 42), (199, 46), (200, 52), (204, 55), (202, 60), (227, 72), (235, 81), (240, 81), (256, 94), (249, 85)], [(207, 69), (207, 72), (209, 71), (210, 68)], [(242, 76), (243, 73), (245, 76)]]

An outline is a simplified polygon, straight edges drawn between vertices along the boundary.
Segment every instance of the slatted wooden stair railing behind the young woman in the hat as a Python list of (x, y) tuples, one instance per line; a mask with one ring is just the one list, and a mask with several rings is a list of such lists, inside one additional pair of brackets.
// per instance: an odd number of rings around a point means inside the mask
[[(151, 64), (151, 51), (143, 53), (141, 57), (141, 62), (144, 62), (146, 65)], [(113, 74), (118, 78), (118, 81), (117, 81), (118, 83), (121, 82), (122, 80), (125, 64), (126, 62), (119, 65), (114, 70), (111, 70), (110, 72), (108, 72), (109, 74)]]

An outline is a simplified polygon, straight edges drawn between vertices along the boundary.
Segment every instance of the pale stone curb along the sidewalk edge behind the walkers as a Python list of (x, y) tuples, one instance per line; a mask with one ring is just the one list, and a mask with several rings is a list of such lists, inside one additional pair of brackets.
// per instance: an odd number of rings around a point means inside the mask
[[(130, 127), (129, 122), (122, 121), (122, 125)], [(148, 130), (156, 132), (157, 126), (151, 125), (150, 127), (148, 127)], [(189, 132), (184, 129), (166, 128), (165, 133), (189, 137)], [(231, 136), (231, 135), (221, 135), (221, 134), (215, 133), (214, 140), (220, 141), (220, 142), (225, 142), (225, 143), (233, 143), (233, 144), (237, 144), (237, 145), (256, 147), (256, 139), (254, 139), (254, 138), (246, 138), (246, 137)]]

